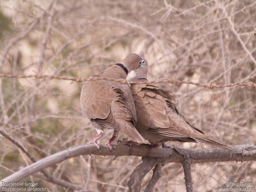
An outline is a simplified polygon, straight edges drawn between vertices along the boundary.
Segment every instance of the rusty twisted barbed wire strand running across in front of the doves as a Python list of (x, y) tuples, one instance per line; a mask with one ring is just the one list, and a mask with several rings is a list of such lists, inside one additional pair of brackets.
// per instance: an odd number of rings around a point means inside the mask
[[(15, 79), (20, 79), (20, 78), (30, 78), (30, 77), (35, 77), (36, 79), (60, 79), (60, 80), (70, 80), (73, 82), (86, 82), (86, 81), (97, 81), (97, 80), (107, 80), (107, 81), (113, 81), (113, 82), (119, 82), (122, 84), (128, 84), (131, 86), (131, 82), (127, 81), (126, 79), (114, 79), (114, 78), (106, 78), (106, 77), (90, 77), (87, 79), (83, 79), (81, 77), (61, 77), (61, 76), (51, 76), (51, 75), (42, 75), (42, 74), (35, 74), (35, 75), (9, 75), (9, 74), (0, 74), (0, 77), (5, 77), (5, 78), (15, 78)], [(175, 80), (173, 78), (161, 78), (158, 80), (154, 81), (143, 81), (143, 82), (132, 82), (132, 84), (157, 84), (157, 83), (170, 83), (170, 84), (192, 84), (196, 85), (199, 87), (205, 87), (209, 89), (214, 89), (214, 88), (225, 88), (225, 87), (233, 87), (233, 86), (243, 86), (243, 87), (251, 87), (251, 88), (256, 88), (256, 83), (254, 82), (248, 82), (248, 83), (233, 83), (233, 84), (228, 84), (228, 85), (216, 85), (214, 83), (211, 84), (200, 84), (200, 83), (194, 83), (193, 81), (180, 81), (180, 80)]]

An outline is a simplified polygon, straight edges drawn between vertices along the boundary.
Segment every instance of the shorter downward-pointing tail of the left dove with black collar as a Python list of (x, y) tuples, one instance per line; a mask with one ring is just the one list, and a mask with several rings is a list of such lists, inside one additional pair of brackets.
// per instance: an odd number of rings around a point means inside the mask
[(125, 137), (128, 137), (128, 139), (133, 140), (137, 143), (147, 143), (130, 122), (122, 120), (121, 132), (124, 134)]

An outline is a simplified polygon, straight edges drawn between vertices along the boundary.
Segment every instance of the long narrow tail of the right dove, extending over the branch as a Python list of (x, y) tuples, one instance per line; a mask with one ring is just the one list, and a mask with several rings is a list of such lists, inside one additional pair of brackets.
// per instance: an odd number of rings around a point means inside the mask
[(191, 136), (191, 138), (193, 138), (196, 141), (200, 141), (202, 143), (206, 143), (215, 147), (219, 147), (219, 148), (223, 148), (223, 149), (228, 149), (230, 151), (232, 151), (232, 147), (226, 143), (223, 143), (221, 141), (218, 141), (216, 139), (213, 139), (211, 137), (208, 137), (204, 134), (200, 134), (200, 135), (193, 135)]

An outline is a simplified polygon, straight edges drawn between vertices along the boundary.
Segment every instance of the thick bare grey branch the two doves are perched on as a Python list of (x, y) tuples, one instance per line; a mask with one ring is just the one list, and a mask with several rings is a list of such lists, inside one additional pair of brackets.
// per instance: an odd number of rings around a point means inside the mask
[[(230, 152), (220, 148), (210, 148), (201, 150), (187, 150), (180, 148), (155, 148), (152, 149), (149, 157), (151, 158), (166, 158), (165, 162), (182, 163), (186, 158), (190, 158), (192, 163), (205, 163), (205, 162), (225, 162), (225, 161), (252, 161), (256, 160), (256, 146), (253, 144), (234, 146), (234, 152)], [(179, 151), (179, 152), (178, 152)], [(41, 171), (49, 166), (65, 161), (69, 158), (80, 155), (100, 155), (100, 156), (129, 156), (130, 147), (123, 145), (117, 150), (109, 151), (108, 146), (102, 145), (101, 150), (93, 145), (80, 145), (73, 148), (66, 149), (51, 156), (48, 156), (34, 164), (31, 164), (12, 175), (6, 177), (2, 181), (15, 182), (20, 181), (29, 175)], [(143, 146), (134, 146), (132, 156), (146, 157), (148, 148)], [(0, 183), (0, 187), (2, 182)]]

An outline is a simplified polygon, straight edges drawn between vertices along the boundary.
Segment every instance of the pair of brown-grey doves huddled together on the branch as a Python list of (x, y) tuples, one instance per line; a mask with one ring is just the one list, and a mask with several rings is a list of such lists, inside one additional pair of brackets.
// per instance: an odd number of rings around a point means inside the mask
[[(98, 135), (90, 140), (100, 150), (97, 142), (105, 128), (114, 129), (107, 141), (110, 151), (119, 131), (137, 143), (163, 144), (166, 141), (203, 142), (216, 147), (231, 149), (223, 142), (206, 136), (188, 123), (175, 105), (175, 98), (168, 89), (151, 84), (133, 84), (147, 81), (148, 63), (135, 53), (90, 78), (83, 85), (80, 102), (84, 116), (88, 117)], [(127, 76), (128, 75), (128, 76)], [(122, 84), (99, 78), (126, 79)]]

